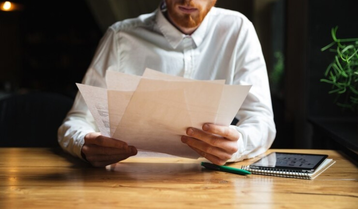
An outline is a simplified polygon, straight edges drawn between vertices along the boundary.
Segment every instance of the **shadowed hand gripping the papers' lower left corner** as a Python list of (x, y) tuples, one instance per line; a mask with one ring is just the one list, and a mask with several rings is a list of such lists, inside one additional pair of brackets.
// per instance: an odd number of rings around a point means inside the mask
[(84, 136), (82, 156), (95, 167), (105, 167), (137, 154), (134, 146), (126, 142), (102, 136), (101, 133), (88, 133)]

